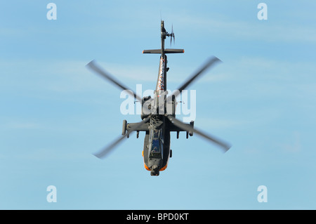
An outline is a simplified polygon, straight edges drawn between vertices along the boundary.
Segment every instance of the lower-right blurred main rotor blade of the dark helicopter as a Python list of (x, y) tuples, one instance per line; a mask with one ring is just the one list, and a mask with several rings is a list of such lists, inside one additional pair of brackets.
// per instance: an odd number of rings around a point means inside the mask
[(216, 143), (216, 145), (219, 145), (220, 147), (223, 148), (224, 152), (227, 152), (231, 145), (229, 143), (225, 143), (223, 140), (219, 140), (218, 138), (214, 136), (210, 136), (209, 134), (203, 133), (202, 131), (197, 131), (197, 129), (193, 129), (192, 126), (189, 124), (184, 124), (182, 121), (179, 121), (175, 117), (171, 115), (167, 115), (167, 118), (169, 121), (171, 121), (174, 125), (178, 126), (180, 129), (183, 129), (188, 132), (195, 132), (199, 136), (202, 136), (203, 138), (206, 138), (207, 140), (210, 140), (212, 143)]

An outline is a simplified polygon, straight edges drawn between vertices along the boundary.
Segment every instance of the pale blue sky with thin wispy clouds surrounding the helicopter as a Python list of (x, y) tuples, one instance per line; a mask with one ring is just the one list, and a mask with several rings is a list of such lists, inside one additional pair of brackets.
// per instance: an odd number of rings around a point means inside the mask
[[(52, 1), (47, 20), (49, 2), (0, 3), (0, 209), (316, 209), (315, 3)], [(144, 133), (92, 155), (140, 116), (121, 114), (120, 91), (85, 65), (153, 89), (159, 56), (142, 51), (159, 48), (161, 15), (185, 49), (169, 55), (168, 88), (211, 55), (223, 61), (190, 89), (195, 126), (232, 148), (172, 133), (169, 166), (152, 177)]]

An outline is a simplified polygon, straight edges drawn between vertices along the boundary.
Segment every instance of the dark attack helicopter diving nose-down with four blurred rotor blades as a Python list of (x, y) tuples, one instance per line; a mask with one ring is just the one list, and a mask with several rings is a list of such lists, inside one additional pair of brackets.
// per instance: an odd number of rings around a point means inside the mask
[(215, 136), (211, 136), (209, 133), (204, 133), (194, 127), (194, 121), (190, 121), (190, 124), (186, 124), (179, 119), (176, 119), (176, 97), (183, 91), (187, 86), (192, 84), (198, 77), (206, 72), (207, 69), (212, 67), (218, 62), (221, 62), (220, 59), (212, 56), (206, 63), (199, 69), (197, 72), (192, 74), (192, 76), (187, 79), (176, 91), (173, 91), (171, 95), (168, 95), (166, 90), (166, 76), (169, 71), (167, 67), (167, 56), (169, 53), (184, 53), (183, 49), (175, 48), (165, 48), (166, 37), (170, 37), (170, 44), (173, 40), (175, 41), (175, 35), (173, 33), (173, 26), (171, 28), (171, 33), (166, 32), (164, 27), (164, 20), (161, 20), (161, 48), (144, 50), (143, 53), (156, 53), (160, 54), (159, 59), (159, 73), (157, 78), (156, 88), (154, 90), (153, 97), (144, 96), (141, 98), (134, 91), (131, 91), (131, 88), (127, 88), (124, 84), (121, 84), (117, 79), (114, 79), (111, 74), (105, 72), (101, 69), (95, 62), (92, 60), (89, 62), (86, 67), (96, 72), (100, 76), (110, 81), (115, 86), (121, 88), (121, 90), (126, 91), (134, 100), (141, 102), (141, 121), (137, 123), (127, 123), (126, 120), (123, 121), (121, 137), (114, 140), (110, 145), (103, 148), (94, 155), (98, 158), (104, 158), (109, 154), (114, 147), (116, 147), (122, 140), (129, 138), (129, 135), (136, 131), (137, 138), (139, 132), (145, 132), (144, 147), (143, 147), (143, 159), (144, 166), (147, 171), (150, 171), (151, 176), (159, 176), (159, 171), (164, 171), (169, 163), (169, 158), (172, 157), (172, 150), (170, 149), (170, 133), (176, 132), (177, 138), (179, 138), (179, 132), (185, 131), (186, 138), (188, 136), (193, 136), (193, 133), (196, 133), (199, 136), (202, 136), (206, 140), (209, 140), (211, 143), (218, 145), (224, 152), (228, 151), (231, 147), (229, 143), (226, 143)]

